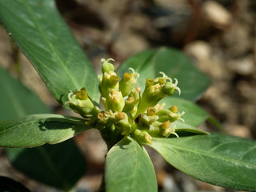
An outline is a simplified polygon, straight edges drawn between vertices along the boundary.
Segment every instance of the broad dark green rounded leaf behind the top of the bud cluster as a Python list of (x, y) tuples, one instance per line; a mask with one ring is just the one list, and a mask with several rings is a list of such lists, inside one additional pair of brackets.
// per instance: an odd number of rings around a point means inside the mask
[(118, 74), (122, 76), (129, 67), (134, 68), (141, 74), (138, 86), (142, 88), (146, 78), (162, 76), (159, 74), (160, 71), (170, 78), (177, 78), (178, 86), (182, 90), (180, 97), (193, 101), (200, 98), (207, 87), (210, 86), (210, 79), (194, 67), (190, 58), (181, 51), (168, 47), (142, 51), (128, 58), (118, 68)]

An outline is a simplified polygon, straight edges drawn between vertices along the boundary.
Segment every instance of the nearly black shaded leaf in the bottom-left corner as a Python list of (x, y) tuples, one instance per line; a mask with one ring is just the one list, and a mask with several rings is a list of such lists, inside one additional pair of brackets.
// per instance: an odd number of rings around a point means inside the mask
[(6, 178), (0, 176), (0, 191), (3, 192), (30, 192), (25, 186), (22, 186), (21, 183), (15, 182), (11, 178)]

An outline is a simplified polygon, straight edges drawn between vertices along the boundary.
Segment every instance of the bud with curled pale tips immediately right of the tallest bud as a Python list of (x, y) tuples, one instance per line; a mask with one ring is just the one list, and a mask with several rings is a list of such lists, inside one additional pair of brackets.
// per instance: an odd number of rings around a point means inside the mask
[(122, 92), (122, 96), (126, 97), (130, 94), (130, 92), (134, 89), (134, 85), (137, 82), (137, 78), (139, 78), (139, 74), (135, 73), (133, 68), (129, 68), (133, 73), (125, 73), (121, 81), (119, 82), (119, 89)]

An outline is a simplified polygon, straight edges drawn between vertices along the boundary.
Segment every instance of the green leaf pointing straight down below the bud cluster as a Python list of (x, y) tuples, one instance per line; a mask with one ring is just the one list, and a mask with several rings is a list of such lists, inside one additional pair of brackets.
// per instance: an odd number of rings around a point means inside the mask
[(123, 138), (106, 155), (106, 192), (156, 192), (154, 166), (143, 146)]

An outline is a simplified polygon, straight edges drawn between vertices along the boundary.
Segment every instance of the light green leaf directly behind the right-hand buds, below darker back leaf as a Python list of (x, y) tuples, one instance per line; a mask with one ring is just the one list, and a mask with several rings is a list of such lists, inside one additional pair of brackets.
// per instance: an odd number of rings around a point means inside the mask
[(182, 98), (166, 97), (163, 98), (161, 102), (165, 102), (166, 107), (178, 106), (180, 113), (185, 111), (182, 118), (185, 120), (186, 124), (190, 126), (200, 126), (209, 117), (209, 114), (198, 105), (194, 104), (194, 102)]

